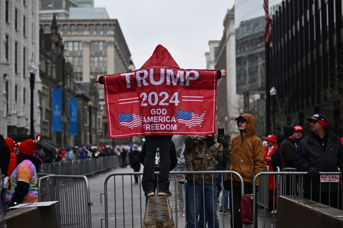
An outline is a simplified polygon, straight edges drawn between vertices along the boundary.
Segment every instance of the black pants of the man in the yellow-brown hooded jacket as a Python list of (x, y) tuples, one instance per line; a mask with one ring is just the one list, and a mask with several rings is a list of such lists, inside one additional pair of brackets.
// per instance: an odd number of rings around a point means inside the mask
[[(239, 215), (240, 200), (241, 200), (241, 189), (240, 182), (232, 181), (233, 186), (229, 194), (229, 208), (230, 208), (230, 225), (231, 228), (241, 228), (242, 221)], [(252, 194), (252, 184), (249, 182), (244, 182), (244, 194)], [(256, 194), (256, 204), (255, 204), (255, 227), (257, 226), (257, 194)], [(251, 203), (252, 204), (252, 203)], [(252, 210), (252, 205), (251, 205)], [(253, 213), (251, 212), (251, 215)]]

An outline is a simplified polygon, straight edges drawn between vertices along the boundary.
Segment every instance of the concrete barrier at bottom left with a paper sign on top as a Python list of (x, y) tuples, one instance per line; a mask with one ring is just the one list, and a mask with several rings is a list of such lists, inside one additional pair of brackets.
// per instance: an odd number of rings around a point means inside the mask
[(58, 228), (56, 204), (43, 207), (24, 207), (5, 215), (7, 228)]

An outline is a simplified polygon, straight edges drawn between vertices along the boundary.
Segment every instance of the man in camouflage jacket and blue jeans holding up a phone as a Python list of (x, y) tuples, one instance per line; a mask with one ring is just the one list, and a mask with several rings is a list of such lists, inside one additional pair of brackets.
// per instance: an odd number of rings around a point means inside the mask
[[(184, 155), (185, 171), (215, 171), (218, 170), (218, 161), (226, 164), (230, 160), (231, 150), (224, 136), (218, 135), (216, 140), (214, 135), (188, 135), (185, 139)], [(209, 228), (219, 227), (215, 183), (218, 174), (188, 174), (185, 177), (187, 180), (187, 227), (199, 227), (199, 224), (206, 225), (206, 223)], [(205, 218), (203, 218), (203, 209), (200, 209), (203, 205)], [(198, 215), (200, 216), (199, 224)]]

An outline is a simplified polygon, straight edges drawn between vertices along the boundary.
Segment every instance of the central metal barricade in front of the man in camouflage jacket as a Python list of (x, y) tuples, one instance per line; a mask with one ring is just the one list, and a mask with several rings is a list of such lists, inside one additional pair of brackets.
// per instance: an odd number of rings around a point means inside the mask
[[(213, 179), (214, 174), (230, 174), (231, 176), (235, 175), (240, 180), (241, 195), (244, 194), (243, 178), (234, 171), (170, 172), (170, 174), (184, 174), (184, 175), (185, 174), (191, 174), (191, 175), (211, 174), (212, 179)], [(139, 175), (138, 183), (133, 183), (134, 175)], [(110, 227), (142, 227), (143, 226), (143, 217), (145, 213), (146, 199), (144, 197), (144, 192), (141, 187), (141, 175), (143, 175), (142, 172), (114, 173), (106, 177), (105, 182), (104, 182), (104, 193), (100, 194), (101, 206), (103, 206), (102, 195), (104, 195), (104, 209), (105, 209), (105, 217), (101, 219), (101, 227), (103, 227), (103, 220), (105, 220), (106, 228), (108, 228), (109, 226)], [(155, 172), (155, 175), (158, 175), (158, 172)], [(110, 182), (110, 181), (113, 181), (113, 182)], [(213, 179), (212, 181), (215, 182), (215, 179)], [(190, 184), (194, 185), (194, 182)], [(231, 184), (232, 184), (232, 181), (231, 181)], [(221, 182), (221, 186), (223, 190), (223, 181)], [(213, 187), (216, 188), (215, 185)], [(174, 183), (170, 182), (169, 190), (172, 193), (172, 197), (169, 197), (169, 202), (170, 202), (171, 211), (173, 212), (175, 227), (178, 227), (178, 226), (185, 227), (187, 223), (187, 220), (186, 220), (187, 216), (185, 216), (185, 214), (187, 214), (187, 208), (185, 208), (186, 185), (182, 185), (182, 184), (180, 185), (180, 183), (178, 183), (177, 181), (175, 181)], [(156, 189), (156, 193), (157, 193), (157, 189)], [(204, 185), (203, 185), (203, 193), (204, 193)], [(232, 202), (232, 199), (229, 201)], [(133, 206), (134, 204), (135, 204), (135, 207)], [(138, 204), (139, 204), (139, 207), (138, 207)], [(215, 204), (214, 206), (217, 207), (216, 202), (214, 202), (214, 204)], [(113, 205), (114, 207), (109, 208), (110, 205)], [(203, 206), (204, 206), (204, 199), (203, 199)], [(180, 213), (181, 216), (178, 213)], [(219, 223), (221, 223), (221, 220), (222, 220), (222, 227), (230, 227), (229, 216), (224, 216), (223, 214), (222, 218), (218, 217)]]

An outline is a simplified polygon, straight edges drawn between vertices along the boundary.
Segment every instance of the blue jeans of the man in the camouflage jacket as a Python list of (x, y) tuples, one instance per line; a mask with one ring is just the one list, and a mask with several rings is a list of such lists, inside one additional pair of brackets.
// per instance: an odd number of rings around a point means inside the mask
[[(206, 223), (208, 228), (219, 228), (219, 221), (217, 218), (217, 187), (212, 185), (200, 185), (193, 183), (192, 181), (187, 181), (186, 193), (188, 209), (187, 228), (199, 228), (201, 224), (205, 226)], [(205, 201), (203, 202), (203, 200)], [(205, 221), (203, 219), (204, 211), (200, 210), (201, 205), (204, 205), (205, 207)], [(200, 213), (202, 213), (201, 216)], [(202, 221), (198, 221), (198, 216)]]

